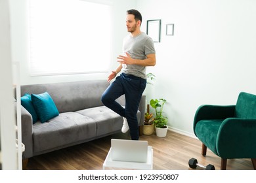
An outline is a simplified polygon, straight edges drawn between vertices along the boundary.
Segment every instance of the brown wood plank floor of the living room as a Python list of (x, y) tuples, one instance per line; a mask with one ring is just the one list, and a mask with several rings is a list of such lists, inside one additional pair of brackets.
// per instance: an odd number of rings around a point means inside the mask
[[(111, 139), (129, 139), (128, 133), (116, 134), (95, 141), (86, 142), (48, 154), (30, 158), (26, 170), (101, 170)], [(203, 165), (212, 164), (220, 169), (221, 158), (207, 150), (207, 156), (201, 155), (201, 142), (168, 131), (167, 137), (157, 137), (156, 134), (142, 135), (140, 140), (148, 141), (154, 149), (154, 165), (156, 170), (193, 170), (188, 167), (190, 158), (198, 159)], [(201, 169), (198, 167), (197, 169)], [(228, 170), (252, 170), (251, 159), (228, 159)]]

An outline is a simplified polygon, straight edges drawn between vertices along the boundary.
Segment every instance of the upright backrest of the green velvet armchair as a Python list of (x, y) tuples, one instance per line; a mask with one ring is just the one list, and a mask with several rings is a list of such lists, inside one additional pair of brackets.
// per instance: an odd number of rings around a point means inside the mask
[(241, 92), (235, 110), (236, 118), (256, 119), (256, 95)]

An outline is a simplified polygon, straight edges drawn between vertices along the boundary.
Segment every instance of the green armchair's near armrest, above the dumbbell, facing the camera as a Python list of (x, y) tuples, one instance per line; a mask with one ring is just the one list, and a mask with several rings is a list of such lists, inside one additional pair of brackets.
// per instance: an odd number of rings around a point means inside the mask
[(221, 158), (256, 158), (256, 119), (224, 120), (216, 146)]

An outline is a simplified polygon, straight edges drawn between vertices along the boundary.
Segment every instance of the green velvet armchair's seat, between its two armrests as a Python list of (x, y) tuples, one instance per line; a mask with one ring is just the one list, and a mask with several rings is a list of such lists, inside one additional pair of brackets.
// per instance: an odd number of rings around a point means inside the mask
[(196, 136), (215, 154), (218, 154), (217, 133), (222, 122), (223, 120), (201, 120), (196, 124)]

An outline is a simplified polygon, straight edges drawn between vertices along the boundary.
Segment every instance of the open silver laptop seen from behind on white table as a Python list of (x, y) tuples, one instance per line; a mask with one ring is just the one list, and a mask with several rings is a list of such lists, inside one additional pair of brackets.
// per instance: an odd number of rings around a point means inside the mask
[(111, 158), (113, 161), (146, 163), (148, 141), (111, 139)]

